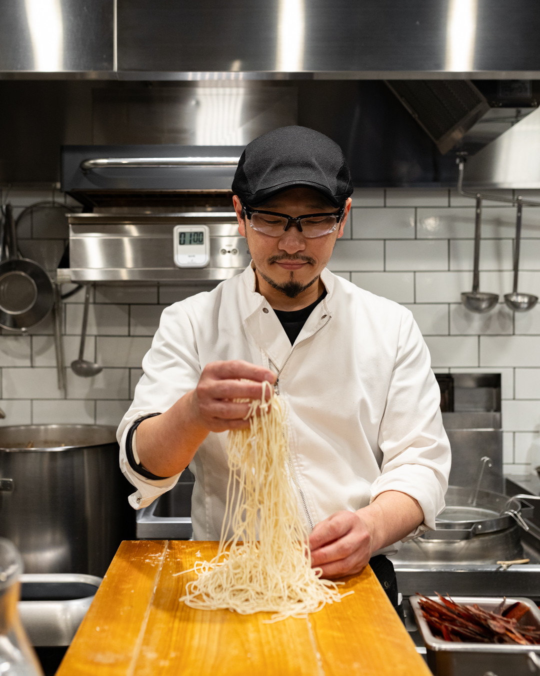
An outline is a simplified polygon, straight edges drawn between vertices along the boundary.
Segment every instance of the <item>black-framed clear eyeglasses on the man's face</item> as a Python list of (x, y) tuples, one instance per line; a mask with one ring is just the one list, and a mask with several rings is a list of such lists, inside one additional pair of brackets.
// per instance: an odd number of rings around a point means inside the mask
[(290, 227), (296, 226), (304, 237), (313, 239), (333, 233), (343, 218), (345, 207), (343, 206), (337, 214), (304, 214), (304, 216), (297, 216), (296, 218), (287, 214), (254, 211), (246, 206), (244, 206), (244, 211), (250, 226), (259, 233), (270, 237), (281, 237)]

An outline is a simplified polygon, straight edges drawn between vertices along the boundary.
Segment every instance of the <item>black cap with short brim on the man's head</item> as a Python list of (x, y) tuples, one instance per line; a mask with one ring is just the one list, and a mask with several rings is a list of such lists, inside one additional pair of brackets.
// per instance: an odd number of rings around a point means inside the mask
[(257, 206), (300, 186), (315, 188), (338, 207), (353, 190), (347, 161), (337, 143), (313, 129), (287, 126), (246, 145), (232, 191), (246, 206)]

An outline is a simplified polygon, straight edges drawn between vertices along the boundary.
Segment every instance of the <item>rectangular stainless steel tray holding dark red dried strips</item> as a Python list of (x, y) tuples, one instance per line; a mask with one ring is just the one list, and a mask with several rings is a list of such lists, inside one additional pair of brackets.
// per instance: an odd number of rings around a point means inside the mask
[[(428, 596), (437, 601), (437, 596)], [(460, 604), (478, 604), (493, 610), (503, 600), (502, 596), (452, 596)], [(529, 606), (529, 612), (520, 620), (526, 625), (540, 626), (540, 610), (529, 598), (506, 597), (508, 604), (520, 601)], [(497, 676), (530, 676), (528, 655), (540, 653), (540, 646), (512, 646), (508, 644), (454, 643), (436, 638), (423, 617), (418, 596), (409, 598), (414, 618), (426, 646), (427, 664), (436, 676), (482, 676), (493, 671)], [(534, 673), (534, 672), (533, 672)]]

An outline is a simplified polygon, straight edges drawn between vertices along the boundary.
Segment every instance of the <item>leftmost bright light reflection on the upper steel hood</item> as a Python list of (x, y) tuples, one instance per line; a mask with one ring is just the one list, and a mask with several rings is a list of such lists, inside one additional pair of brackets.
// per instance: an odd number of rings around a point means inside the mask
[(34, 70), (63, 70), (63, 22), (60, 0), (24, 0)]

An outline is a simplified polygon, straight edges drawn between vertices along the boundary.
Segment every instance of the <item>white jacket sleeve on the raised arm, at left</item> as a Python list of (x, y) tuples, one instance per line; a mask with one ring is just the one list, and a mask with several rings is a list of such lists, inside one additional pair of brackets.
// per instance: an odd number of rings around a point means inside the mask
[(179, 303), (163, 310), (152, 346), (142, 360), (142, 370), (132, 405), (116, 433), (120, 469), (136, 488), (129, 498), (134, 509), (150, 505), (169, 491), (180, 477), (177, 474), (166, 479), (146, 479), (136, 473), (126, 456), (126, 437), (133, 423), (149, 413), (164, 413), (198, 383), (200, 364), (196, 341), (190, 319)]

